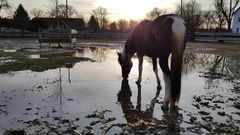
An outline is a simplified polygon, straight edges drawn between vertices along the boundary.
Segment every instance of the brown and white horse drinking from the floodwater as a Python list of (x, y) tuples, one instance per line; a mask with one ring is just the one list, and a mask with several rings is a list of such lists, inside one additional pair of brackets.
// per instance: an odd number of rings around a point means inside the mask
[[(139, 76), (137, 84), (142, 80), (143, 56), (153, 61), (153, 70), (157, 78), (157, 88), (161, 89), (158, 77), (157, 58), (165, 81), (165, 98), (163, 107), (175, 108), (181, 92), (182, 57), (186, 45), (185, 22), (173, 14), (162, 15), (153, 21), (144, 20), (132, 31), (121, 53), (118, 62), (122, 68), (122, 77), (128, 78), (132, 68), (131, 58), (137, 53), (139, 59)], [(168, 58), (171, 56), (171, 71)]]

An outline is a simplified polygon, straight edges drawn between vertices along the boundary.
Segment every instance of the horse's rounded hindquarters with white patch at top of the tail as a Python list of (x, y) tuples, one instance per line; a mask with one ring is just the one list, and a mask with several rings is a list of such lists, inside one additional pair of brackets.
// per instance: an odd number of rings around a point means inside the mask
[(186, 38), (184, 21), (177, 15), (167, 14), (156, 18), (152, 22), (151, 33), (155, 37), (154, 50), (159, 52), (159, 57), (167, 57), (176, 47), (185, 47), (175, 44)]

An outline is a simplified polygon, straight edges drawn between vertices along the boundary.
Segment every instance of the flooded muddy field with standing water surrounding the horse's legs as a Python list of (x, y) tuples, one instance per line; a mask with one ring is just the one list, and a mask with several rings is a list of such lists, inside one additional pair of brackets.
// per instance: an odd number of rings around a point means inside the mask
[(240, 134), (238, 57), (188, 47), (179, 108), (161, 109), (152, 62), (122, 80), (118, 48), (0, 56), (0, 134)]

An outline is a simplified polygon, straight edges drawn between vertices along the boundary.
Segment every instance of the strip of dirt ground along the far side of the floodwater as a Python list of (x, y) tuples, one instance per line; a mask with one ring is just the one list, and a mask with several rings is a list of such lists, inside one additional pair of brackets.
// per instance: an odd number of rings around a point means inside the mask
[[(125, 40), (78, 39), (76, 46), (122, 47), (124, 43)], [(0, 49), (39, 48), (39, 46), (40, 44), (37, 39), (0, 39)], [(48, 47), (48, 44), (43, 44), (43, 46)], [(199, 48), (194, 51), (208, 51), (209, 53), (220, 53), (224, 56), (240, 56), (240, 43), (187, 42), (186, 46), (187, 49)]]

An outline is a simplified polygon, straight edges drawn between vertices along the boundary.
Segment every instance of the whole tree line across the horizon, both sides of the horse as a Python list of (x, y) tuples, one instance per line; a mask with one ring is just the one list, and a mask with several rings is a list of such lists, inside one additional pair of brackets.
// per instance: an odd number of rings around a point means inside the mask
[[(214, 0), (213, 8), (204, 9), (196, 0), (183, 2), (182, 5), (176, 6), (174, 14), (181, 16), (188, 27), (189, 33), (194, 37), (196, 31), (230, 31), (233, 14), (239, 7), (240, 0)], [(0, 0), (0, 13), (1, 10), (9, 10), (11, 8), (8, 0)], [(32, 9), (30, 14), (24, 9), (23, 5), (19, 5), (13, 14), (12, 18), (1, 18), (0, 25), (5, 27), (12, 27), (24, 30), (36, 30), (37, 28), (47, 28), (43, 22), (34, 22), (30, 18), (81, 18), (84, 23), (81, 25), (83, 30), (90, 30), (91, 32), (130, 32), (139, 21), (120, 19), (111, 22), (109, 13), (106, 8), (98, 7), (93, 9), (91, 16), (86, 21), (82, 15), (73, 6), (68, 6), (66, 12), (66, 5), (58, 5), (58, 13), (56, 8), (52, 7), (48, 11), (42, 9)], [(68, 13), (66, 15), (66, 13)], [(153, 8), (146, 14), (145, 19), (153, 20), (158, 16), (167, 13), (164, 9)], [(57, 15), (57, 16), (56, 16)], [(31, 17), (30, 17), (31, 16)]]

